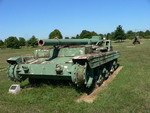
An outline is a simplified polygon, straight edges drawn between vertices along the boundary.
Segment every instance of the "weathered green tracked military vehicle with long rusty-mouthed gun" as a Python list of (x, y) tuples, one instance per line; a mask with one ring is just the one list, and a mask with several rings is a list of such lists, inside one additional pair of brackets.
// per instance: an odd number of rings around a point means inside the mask
[(34, 56), (12, 57), (7, 70), (12, 81), (29, 79), (69, 80), (87, 88), (100, 85), (117, 68), (120, 53), (114, 51), (110, 40), (99, 36), (91, 39), (42, 39)]

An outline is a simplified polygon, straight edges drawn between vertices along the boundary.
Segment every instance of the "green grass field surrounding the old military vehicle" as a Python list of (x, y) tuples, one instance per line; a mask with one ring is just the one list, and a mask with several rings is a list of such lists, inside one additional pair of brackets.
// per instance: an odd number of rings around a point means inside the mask
[[(77, 103), (82, 95), (71, 86), (42, 85), (24, 89), (18, 95), (8, 94), (11, 82), (6, 71), (0, 72), (0, 113), (148, 113), (150, 112), (150, 40), (140, 45), (130, 41), (113, 43), (120, 51), (123, 69), (89, 104)], [(6, 59), (32, 54), (34, 49), (0, 50), (0, 69), (7, 68)], [(24, 87), (28, 81), (21, 83)]]

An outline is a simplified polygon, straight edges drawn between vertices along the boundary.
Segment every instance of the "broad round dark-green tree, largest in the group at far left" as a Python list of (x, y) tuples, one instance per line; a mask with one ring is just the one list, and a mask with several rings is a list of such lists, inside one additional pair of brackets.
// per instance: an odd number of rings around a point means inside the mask
[(5, 40), (5, 44), (7, 48), (19, 48), (19, 40), (16, 37), (9, 37)]

